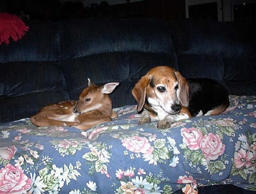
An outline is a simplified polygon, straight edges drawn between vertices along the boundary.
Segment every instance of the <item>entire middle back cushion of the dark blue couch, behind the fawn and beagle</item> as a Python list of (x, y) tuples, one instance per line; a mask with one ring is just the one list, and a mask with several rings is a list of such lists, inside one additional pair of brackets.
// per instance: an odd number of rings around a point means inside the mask
[[(147, 23), (147, 25), (145, 25)], [(136, 81), (157, 65), (177, 68), (168, 25), (151, 19), (78, 19), (60, 23), (64, 75), (72, 99), (87, 86), (119, 81), (113, 107), (135, 104)]]

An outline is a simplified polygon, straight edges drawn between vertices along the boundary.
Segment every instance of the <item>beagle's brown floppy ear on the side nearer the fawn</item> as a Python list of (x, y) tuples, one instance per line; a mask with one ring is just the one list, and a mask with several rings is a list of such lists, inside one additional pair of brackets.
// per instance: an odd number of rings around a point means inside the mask
[(145, 104), (146, 90), (149, 85), (149, 76), (143, 76), (132, 89), (132, 95), (138, 103), (137, 112), (141, 112)]

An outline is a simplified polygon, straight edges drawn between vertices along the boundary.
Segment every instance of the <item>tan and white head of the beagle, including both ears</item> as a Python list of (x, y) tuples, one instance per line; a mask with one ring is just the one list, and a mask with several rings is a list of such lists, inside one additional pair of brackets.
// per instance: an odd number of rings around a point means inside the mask
[(138, 103), (137, 111), (143, 110), (145, 101), (160, 106), (169, 114), (177, 114), (181, 105), (189, 105), (189, 86), (180, 72), (167, 66), (152, 68), (136, 83), (132, 95)]

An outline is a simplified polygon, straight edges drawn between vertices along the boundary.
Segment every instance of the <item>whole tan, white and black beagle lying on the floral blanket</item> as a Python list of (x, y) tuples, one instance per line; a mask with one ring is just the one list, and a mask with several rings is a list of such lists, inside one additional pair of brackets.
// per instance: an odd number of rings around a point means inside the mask
[(181, 119), (218, 115), (229, 106), (224, 86), (211, 79), (188, 79), (168, 66), (158, 66), (141, 77), (132, 89), (141, 113), (139, 125), (159, 121), (166, 129)]

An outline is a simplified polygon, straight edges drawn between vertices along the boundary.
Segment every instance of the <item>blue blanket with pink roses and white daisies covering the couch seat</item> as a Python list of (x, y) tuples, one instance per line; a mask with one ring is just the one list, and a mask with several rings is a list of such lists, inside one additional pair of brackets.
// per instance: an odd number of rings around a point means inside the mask
[(230, 96), (225, 113), (165, 130), (138, 126), (136, 106), (115, 110), (117, 119), (86, 132), (29, 118), (1, 123), (0, 193), (172, 193), (213, 184), (256, 191), (256, 96)]

